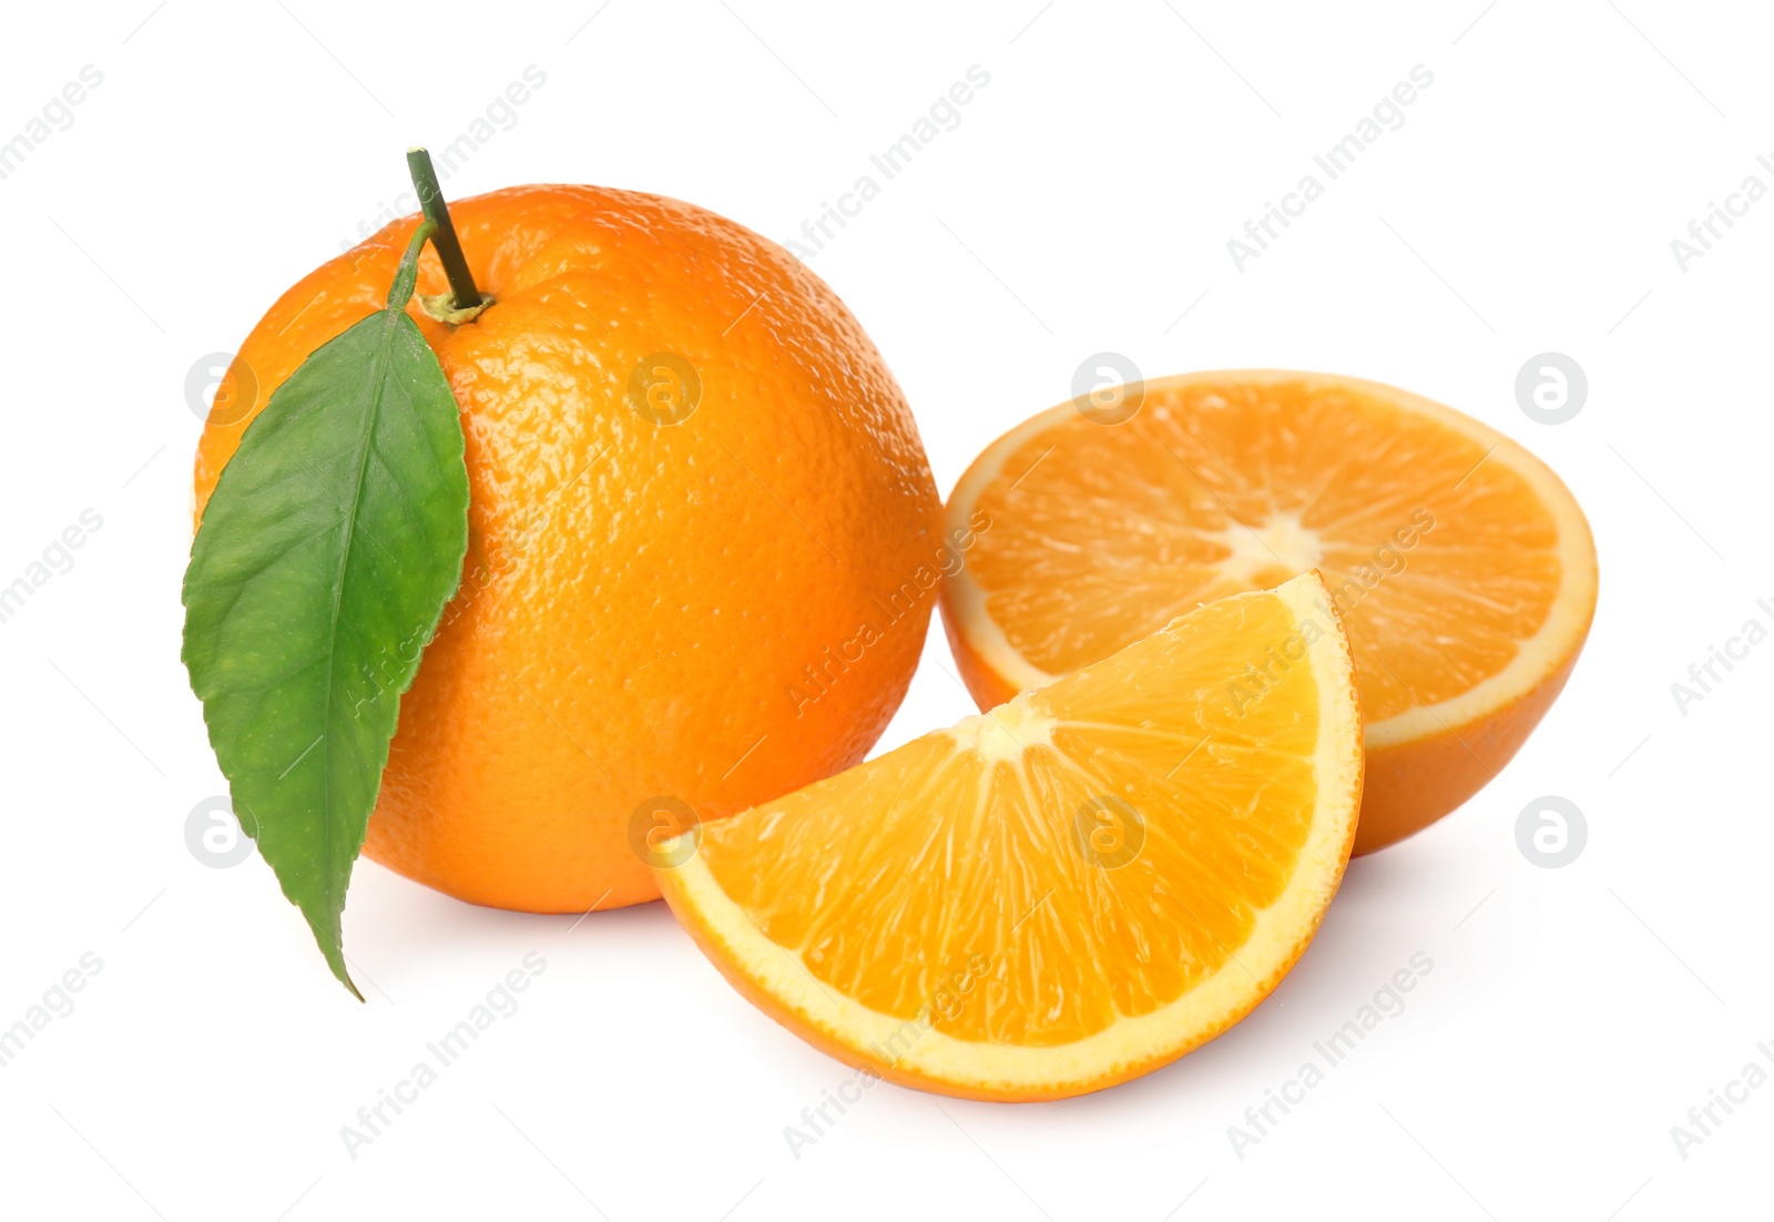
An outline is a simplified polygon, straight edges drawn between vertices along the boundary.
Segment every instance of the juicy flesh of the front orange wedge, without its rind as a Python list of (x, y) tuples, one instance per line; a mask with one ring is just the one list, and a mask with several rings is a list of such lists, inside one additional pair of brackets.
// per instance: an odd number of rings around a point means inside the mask
[[(1297, 624), (1274, 594), (1205, 607), (1050, 688), (710, 823), (699, 853), (821, 986), (880, 1014), (928, 1011), (947, 1036), (1001, 1045), (1091, 1036), (1210, 977), (1293, 880), (1320, 738), (1300, 638), (1313, 626)], [(1252, 662), (1267, 678), (1228, 679)], [(958, 975), (970, 1000), (933, 1006)]]

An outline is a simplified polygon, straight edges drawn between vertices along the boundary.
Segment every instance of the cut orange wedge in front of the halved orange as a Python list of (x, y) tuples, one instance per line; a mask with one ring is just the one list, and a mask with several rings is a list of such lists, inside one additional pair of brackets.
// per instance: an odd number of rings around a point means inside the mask
[(703, 951), (816, 1046), (1052, 1100), (1268, 995), (1343, 878), (1361, 770), (1348, 640), (1306, 575), (651, 853)]

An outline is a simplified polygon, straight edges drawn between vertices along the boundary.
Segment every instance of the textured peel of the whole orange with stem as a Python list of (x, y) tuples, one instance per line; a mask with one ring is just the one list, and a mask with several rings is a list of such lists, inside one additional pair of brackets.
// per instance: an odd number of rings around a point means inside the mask
[[(468, 560), (401, 701), (364, 851), (500, 908), (656, 899), (630, 848), (637, 805), (733, 814), (860, 761), (887, 725), (935, 603), (915, 580), (935, 571), (935, 482), (867, 335), (749, 229), (593, 186), (451, 213), (497, 303), (459, 328), (417, 300), (408, 314), (461, 404)], [(257, 390), (204, 429), (199, 516), (270, 394), (383, 305), (417, 223), (325, 262), (247, 337), (218, 399)], [(419, 291), (445, 289), (428, 248)], [(628, 401), (662, 351), (703, 383), (676, 426)], [(880, 603), (908, 582), (921, 594), (891, 621)], [(864, 621), (880, 638), (852, 658)]]

